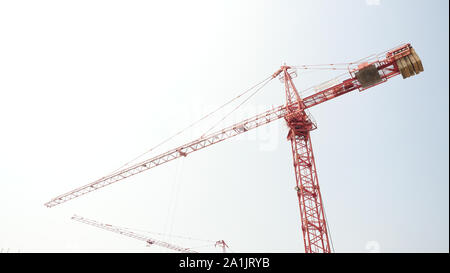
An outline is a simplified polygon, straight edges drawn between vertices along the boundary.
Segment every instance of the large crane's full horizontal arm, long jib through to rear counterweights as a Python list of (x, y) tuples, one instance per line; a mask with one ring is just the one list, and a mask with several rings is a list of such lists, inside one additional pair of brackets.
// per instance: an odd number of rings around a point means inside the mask
[[(282, 68), (277, 70), (275, 74), (273, 74), (273, 77), (276, 77), (278, 75), (285, 77), (286, 75), (283, 75), (282, 71), (283, 69), (287, 70), (288, 68), (289, 67), (283, 66)], [(157, 155), (151, 159), (142, 161), (131, 167), (102, 177), (90, 184), (59, 195), (49, 202), (45, 203), (45, 206), (56, 206), (81, 195), (126, 179), (130, 176), (144, 172), (148, 169), (170, 162), (174, 159), (185, 157), (192, 152), (201, 150), (205, 147), (211, 146), (230, 137), (278, 120), (282, 117), (285, 117), (285, 115), (287, 114), (287, 109), (289, 109), (290, 112), (295, 110), (304, 110), (353, 90), (362, 91), (367, 88), (371, 88), (387, 81), (389, 78), (392, 78), (396, 75), (401, 74), (403, 78), (407, 78), (414, 74), (418, 74), (421, 71), (423, 71), (423, 65), (417, 53), (414, 51), (410, 44), (402, 45), (398, 48), (388, 51), (385, 58), (381, 60), (377, 59), (370, 63), (360, 63), (356, 68), (349, 67), (350, 77), (348, 79), (345, 79), (342, 82), (337, 83), (331, 87), (325, 87), (323, 89), (315, 90), (316, 92), (314, 94), (301, 99), (301, 104), (299, 104), (298, 102), (294, 102), (288, 105), (282, 105), (273, 108), (264, 113), (256, 115), (253, 118), (244, 120), (220, 131), (216, 131), (215, 133), (211, 133), (205, 137), (199, 138), (168, 152)], [(300, 107), (304, 109), (300, 109)]]

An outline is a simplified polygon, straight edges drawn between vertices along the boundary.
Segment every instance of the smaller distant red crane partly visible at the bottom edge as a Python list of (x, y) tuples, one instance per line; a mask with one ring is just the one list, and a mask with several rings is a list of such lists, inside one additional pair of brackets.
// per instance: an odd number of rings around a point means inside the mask
[[(110, 225), (110, 224), (100, 223), (100, 222), (97, 222), (97, 221), (94, 221), (94, 220), (90, 220), (90, 219), (87, 219), (87, 218), (84, 218), (84, 217), (81, 217), (81, 216), (78, 216), (78, 215), (72, 216), (71, 219), (75, 220), (75, 221), (78, 221), (78, 222), (81, 222), (81, 223), (84, 223), (84, 224), (88, 224), (88, 225), (94, 226), (94, 227), (98, 227), (98, 228), (101, 228), (101, 229), (104, 229), (104, 230), (108, 230), (108, 231), (111, 231), (111, 232), (119, 233), (119, 234), (122, 234), (124, 236), (131, 237), (133, 239), (137, 239), (137, 240), (140, 240), (140, 241), (147, 242), (148, 245), (157, 245), (157, 246), (161, 246), (161, 247), (164, 247), (164, 248), (168, 248), (168, 249), (175, 250), (175, 251), (178, 251), (178, 252), (183, 252), (183, 253), (197, 253), (197, 251), (194, 251), (191, 248), (181, 247), (181, 246), (177, 246), (177, 245), (170, 244), (170, 243), (167, 243), (167, 242), (163, 242), (161, 240), (156, 240), (154, 238), (150, 238), (150, 237), (148, 237), (146, 235), (141, 235), (141, 234), (135, 233), (135, 232), (127, 230), (125, 228), (113, 226), (113, 225)], [(221, 247), (222, 251), (224, 253), (226, 252), (226, 248), (228, 248), (228, 245), (225, 243), (224, 240), (220, 240), (220, 241), (215, 242), (214, 246)]]

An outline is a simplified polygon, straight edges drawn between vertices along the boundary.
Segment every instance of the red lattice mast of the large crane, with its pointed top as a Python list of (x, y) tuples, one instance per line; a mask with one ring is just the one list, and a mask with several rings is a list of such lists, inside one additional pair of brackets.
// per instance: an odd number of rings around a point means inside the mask
[[(305, 104), (292, 82), (288, 69), (288, 66), (283, 66), (281, 72), (283, 73), (288, 109), (285, 120), (289, 126), (287, 138), (291, 141), (294, 159), (295, 189), (300, 207), (305, 251), (307, 253), (331, 252), (310, 137), (310, 131), (316, 129), (317, 126), (306, 113)], [(288, 107), (294, 101), (297, 102), (297, 105)]]

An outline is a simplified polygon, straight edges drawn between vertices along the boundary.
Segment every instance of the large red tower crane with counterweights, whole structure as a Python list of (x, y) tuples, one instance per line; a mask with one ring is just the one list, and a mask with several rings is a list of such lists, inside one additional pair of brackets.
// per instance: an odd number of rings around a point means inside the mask
[(317, 128), (307, 110), (313, 106), (349, 93), (363, 91), (388, 79), (402, 75), (408, 78), (423, 71), (422, 62), (410, 44), (404, 44), (384, 53), (373, 55), (358, 62), (347, 63), (348, 74), (343, 80), (328, 81), (314, 88), (314, 93), (302, 98), (292, 78), (295, 69), (337, 69), (335, 65), (287, 66), (283, 65), (269, 80), (280, 77), (284, 83), (286, 104), (246, 119), (222, 130), (204, 135), (199, 139), (175, 149), (120, 169), (92, 183), (59, 195), (45, 203), (53, 207), (76, 197), (113, 184), (135, 174), (167, 163), (174, 159), (247, 132), (261, 125), (284, 118), (288, 127), (288, 140), (291, 142), (296, 191), (299, 200), (301, 227), (305, 252), (331, 252), (330, 238), (324, 214), (323, 200), (317, 178), (310, 132)]

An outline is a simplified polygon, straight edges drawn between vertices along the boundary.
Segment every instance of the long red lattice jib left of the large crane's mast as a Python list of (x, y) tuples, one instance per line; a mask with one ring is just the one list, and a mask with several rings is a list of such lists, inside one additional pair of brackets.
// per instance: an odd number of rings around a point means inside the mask
[(131, 167), (128, 167), (126, 169), (120, 170), (116, 173), (113, 173), (109, 176), (102, 177), (98, 179), (95, 182), (92, 182), (90, 184), (87, 184), (83, 187), (77, 188), (75, 190), (72, 190), (68, 193), (65, 193), (63, 195), (60, 195), (51, 201), (45, 203), (47, 207), (53, 207), (58, 204), (67, 202), (71, 199), (74, 199), (76, 197), (79, 197), (81, 195), (87, 194), (89, 192), (92, 192), (94, 190), (103, 188), (105, 186), (108, 186), (110, 184), (113, 184), (117, 181), (123, 180), (127, 177), (133, 176), (135, 174), (141, 173), (143, 171), (146, 171), (148, 169), (151, 169), (153, 167), (159, 166), (161, 164), (167, 163), (169, 161), (172, 161), (174, 159), (180, 158), (182, 156), (186, 156), (192, 152), (201, 150), (205, 147), (211, 146), (215, 143), (218, 143), (220, 141), (223, 141), (225, 139), (228, 139), (230, 137), (236, 136), (238, 134), (247, 132), (251, 129), (257, 128), (261, 125), (267, 124), (269, 122), (278, 120), (282, 117), (284, 117), (286, 113), (286, 107), (285, 106), (279, 106), (277, 108), (271, 109), (269, 111), (266, 111), (262, 114), (259, 114), (253, 118), (244, 120), (240, 123), (234, 124), (232, 126), (229, 126), (225, 129), (222, 129), (219, 132), (215, 132), (212, 134), (209, 134), (203, 138), (197, 139), (195, 141), (192, 141), (188, 144), (185, 144), (183, 146), (180, 146), (178, 148), (175, 148), (173, 150), (170, 150), (166, 153), (163, 153), (161, 155), (155, 156), (151, 159), (148, 159), (146, 161), (140, 162), (138, 164), (135, 164)]

